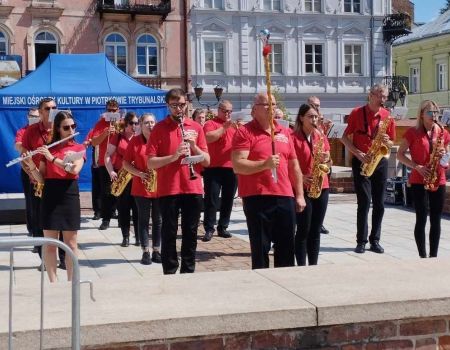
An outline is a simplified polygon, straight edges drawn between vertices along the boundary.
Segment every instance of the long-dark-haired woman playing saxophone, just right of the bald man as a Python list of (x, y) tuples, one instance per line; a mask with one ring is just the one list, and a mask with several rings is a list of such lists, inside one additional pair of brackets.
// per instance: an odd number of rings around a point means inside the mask
[[(328, 176), (322, 174), (321, 193), (318, 198), (308, 195), (313, 181), (314, 163), (329, 167), (330, 145), (328, 139), (319, 127), (319, 113), (309, 104), (300, 106), (295, 128), (292, 132), (295, 153), (303, 174), (303, 186), (306, 192), (306, 207), (297, 213), (297, 231), (295, 234), (295, 257), (297, 265), (317, 265), (320, 250), (320, 230), (328, 206)], [(320, 147), (320, 149), (319, 149)]]

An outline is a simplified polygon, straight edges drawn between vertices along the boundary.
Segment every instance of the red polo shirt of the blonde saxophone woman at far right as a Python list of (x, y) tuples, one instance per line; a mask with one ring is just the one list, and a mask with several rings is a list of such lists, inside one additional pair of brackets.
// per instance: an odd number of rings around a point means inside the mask
[[(441, 131), (439, 128), (435, 129), (436, 132), (433, 135), (433, 142), (436, 141), (438, 135), (440, 135)], [(438, 131), (439, 130), (439, 131)], [(415, 127), (409, 128), (406, 130), (405, 135), (403, 136), (408, 143), (409, 151), (411, 153), (411, 159), (414, 163), (418, 165), (426, 166), (430, 161), (430, 144), (428, 141), (428, 135), (425, 133), (423, 129), (417, 129)], [(447, 130), (444, 129), (444, 145), (447, 145), (450, 142), (450, 136)], [(439, 185), (445, 185), (445, 168), (439, 166)], [(409, 176), (409, 182), (411, 184), (423, 184), (423, 176), (419, 174), (416, 169), (411, 171)]]

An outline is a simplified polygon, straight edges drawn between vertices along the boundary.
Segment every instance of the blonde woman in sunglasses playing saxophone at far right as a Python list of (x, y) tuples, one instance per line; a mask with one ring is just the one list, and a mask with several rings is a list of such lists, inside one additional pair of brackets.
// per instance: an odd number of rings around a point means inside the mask
[[(430, 210), (430, 258), (437, 257), (439, 239), (441, 236), (441, 216), (445, 202), (445, 171), (448, 159), (442, 156), (449, 152), (450, 136), (447, 130), (437, 122), (439, 107), (431, 100), (422, 101), (417, 114), (417, 124), (409, 128), (398, 149), (397, 157), (400, 162), (411, 168), (409, 183), (411, 184), (416, 224), (414, 238), (421, 258), (427, 257), (425, 226), (427, 223), (427, 197)], [(439, 144), (438, 142), (442, 142)], [(409, 149), (410, 157), (406, 156)], [(424, 187), (425, 177), (431, 175), (430, 156), (435, 150), (435, 188)], [(442, 163), (441, 163), (442, 161)]]

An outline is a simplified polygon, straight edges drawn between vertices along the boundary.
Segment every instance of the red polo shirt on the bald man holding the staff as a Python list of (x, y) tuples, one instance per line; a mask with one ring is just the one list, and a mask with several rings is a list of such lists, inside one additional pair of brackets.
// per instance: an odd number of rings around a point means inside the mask
[[(236, 130), (232, 150), (249, 151), (248, 160), (267, 159), (272, 155), (271, 135), (262, 130), (256, 120), (252, 120)], [(278, 125), (276, 121), (275, 153), (280, 154), (277, 183), (273, 181), (270, 169), (252, 175), (238, 174), (239, 195), (241, 197), (256, 195), (294, 196), (288, 173), (288, 161), (296, 158), (294, 144), (289, 129)]]

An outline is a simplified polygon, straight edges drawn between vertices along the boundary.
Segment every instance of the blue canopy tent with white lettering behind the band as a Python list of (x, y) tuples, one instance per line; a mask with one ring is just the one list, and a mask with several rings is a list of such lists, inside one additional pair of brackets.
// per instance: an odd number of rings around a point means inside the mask
[[(165, 91), (136, 82), (113, 65), (105, 54), (51, 54), (39, 68), (16, 84), (0, 89), (0, 193), (22, 192), (20, 165), (6, 168), (18, 156), (14, 148), (18, 129), (26, 125), (30, 107), (44, 97), (53, 97), (59, 109), (70, 109), (82, 142), (114, 98), (120, 108), (138, 115), (151, 112), (161, 120), (167, 112)], [(91, 152), (80, 174), (80, 189), (91, 188)]]

